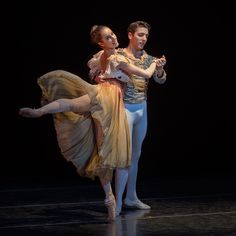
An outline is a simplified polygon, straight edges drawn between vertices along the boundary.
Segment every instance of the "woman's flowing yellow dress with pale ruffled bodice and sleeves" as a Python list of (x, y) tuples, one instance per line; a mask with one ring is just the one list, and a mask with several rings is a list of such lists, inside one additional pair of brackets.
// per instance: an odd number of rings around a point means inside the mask
[[(101, 53), (89, 61), (90, 74), (97, 73)], [(128, 77), (116, 71), (119, 60), (122, 58), (118, 55), (110, 57), (102, 75), (107, 82), (98, 85), (63, 70), (48, 72), (38, 79), (43, 104), (59, 98), (90, 96), (92, 108), (87, 113), (53, 114), (61, 153), (75, 165), (81, 176), (111, 180), (114, 168), (128, 167), (131, 162), (130, 134), (122, 93), (122, 83)], [(123, 82), (114, 79), (118, 77)]]

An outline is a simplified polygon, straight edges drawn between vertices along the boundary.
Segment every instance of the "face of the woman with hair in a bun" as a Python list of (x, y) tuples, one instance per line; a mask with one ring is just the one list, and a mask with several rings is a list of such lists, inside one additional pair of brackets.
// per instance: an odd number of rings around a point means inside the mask
[(104, 27), (100, 32), (100, 35), (101, 40), (99, 42), (99, 45), (103, 49), (115, 49), (119, 46), (117, 37), (110, 28)]

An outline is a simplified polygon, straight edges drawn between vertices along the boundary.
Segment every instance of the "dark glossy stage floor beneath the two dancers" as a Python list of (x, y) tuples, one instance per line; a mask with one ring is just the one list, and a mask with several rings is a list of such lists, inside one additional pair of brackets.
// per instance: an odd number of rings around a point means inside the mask
[(146, 181), (138, 192), (152, 209), (124, 208), (108, 222), (98, 183), (9, 182), (0, 192), (0, 235), (235, 236), (234, 184), (221, 177)]

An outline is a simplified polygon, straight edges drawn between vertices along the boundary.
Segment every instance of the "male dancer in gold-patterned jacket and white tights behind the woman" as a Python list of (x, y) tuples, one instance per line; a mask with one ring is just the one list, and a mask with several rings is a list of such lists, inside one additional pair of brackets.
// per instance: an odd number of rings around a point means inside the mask
[[(147, 22), (136, 21), (128, 26), (129, 44), (126, 48), (118, 49), (118, 53), (124, 55), (130, 63), (141, 68), (149, 67), (153, 57), (144, 51), (151, 27)], [(165, 57), (158, 59), (154, 80), (163, 84), (166, 81), (164, 65)], [(141, 156), (142, 143), (147, 132), (147, 88), (148, 79), (131, 76), (124, 94), (125, 110), (132, 141), (131, 166), (128, 170), (117, 169), (115, 178), (116, 188), (116, 214), (119, 215), (122, 208), (122, 195), (126, 187), (124, 205), (136, 209), (150, 209), (151, 207), (137, 196), (136, 182), (138, 174), (138, 162)]]

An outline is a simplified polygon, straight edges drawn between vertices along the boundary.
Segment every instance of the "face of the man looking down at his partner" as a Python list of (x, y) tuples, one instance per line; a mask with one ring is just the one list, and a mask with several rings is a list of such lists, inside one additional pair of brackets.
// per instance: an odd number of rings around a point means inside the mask
[(145, 27), (138, 27), (134, 34), (129, 32), (128, 37), (130, 40), (130, 44), (132, 47), (137, 50), (143, 50), (147, 40), (148, 40), (149, 32), (148, 29)]

